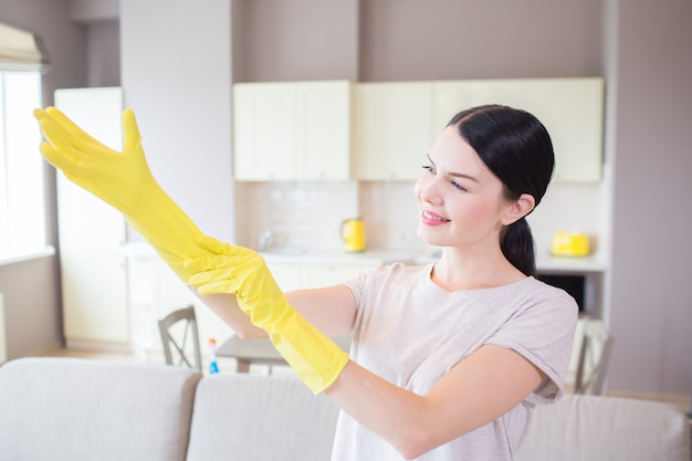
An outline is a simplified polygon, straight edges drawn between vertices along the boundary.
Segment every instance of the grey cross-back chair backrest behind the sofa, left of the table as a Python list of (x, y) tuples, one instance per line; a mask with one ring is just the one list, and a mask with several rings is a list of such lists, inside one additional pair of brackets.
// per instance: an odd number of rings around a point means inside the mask
[[(180, 322), (182, 322), (181, 332)], [(166, 357), (167, 365), (185, 365), (199, 371), (202, 370), (202, 356), (195, 306), (189, 305), (166, 315), (158, 321), (158, 329), (161, 335), (164, 356)], [(190, 337), (192, 340), (190, 345), (192, 347), (192, 358), (189, 357), (190, 350), (188, 347), (188, 339)], [(174, 362), (174, 355), (178, 358), (177, 364)]]

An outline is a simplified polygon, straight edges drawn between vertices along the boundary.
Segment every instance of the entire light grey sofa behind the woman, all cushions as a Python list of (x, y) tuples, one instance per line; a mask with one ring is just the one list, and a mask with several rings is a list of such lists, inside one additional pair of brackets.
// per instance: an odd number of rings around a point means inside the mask
[[(1, 461), (327, 461), (337, 413), (291, 376), (71, 358), (0, 367)], [(567, 396), (536, 409), (516, 459), (689, 461), (690, 428), (668, 405)]]

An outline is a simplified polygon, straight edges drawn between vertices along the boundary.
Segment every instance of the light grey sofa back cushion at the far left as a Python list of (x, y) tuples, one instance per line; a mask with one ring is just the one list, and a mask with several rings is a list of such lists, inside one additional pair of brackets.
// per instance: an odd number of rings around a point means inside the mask
[(0, 367), (7, 460), (185, 460), (199, 373), (76, 358)]

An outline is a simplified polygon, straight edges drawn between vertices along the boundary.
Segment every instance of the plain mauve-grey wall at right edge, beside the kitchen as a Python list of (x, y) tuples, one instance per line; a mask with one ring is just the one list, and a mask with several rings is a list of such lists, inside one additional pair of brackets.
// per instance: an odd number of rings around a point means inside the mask
[(690, 389), (692, 2), (621, 1), (610, 388)]

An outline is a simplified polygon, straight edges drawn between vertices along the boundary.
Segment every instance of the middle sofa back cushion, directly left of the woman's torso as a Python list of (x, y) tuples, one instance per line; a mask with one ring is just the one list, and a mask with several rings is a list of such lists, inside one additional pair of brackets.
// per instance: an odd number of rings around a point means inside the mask
[(197, 388), (188, 461), (326, 461), (338, 408), (293, 376), (216, 375)]

